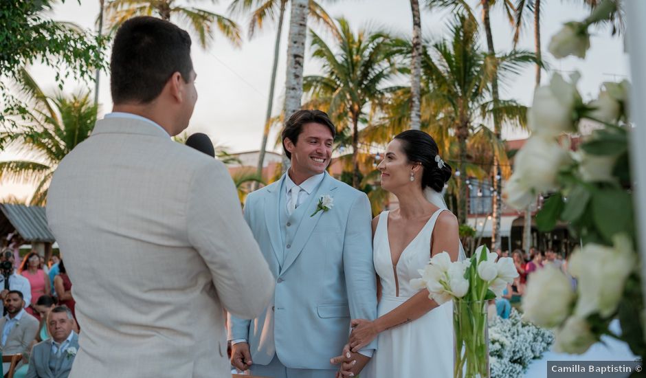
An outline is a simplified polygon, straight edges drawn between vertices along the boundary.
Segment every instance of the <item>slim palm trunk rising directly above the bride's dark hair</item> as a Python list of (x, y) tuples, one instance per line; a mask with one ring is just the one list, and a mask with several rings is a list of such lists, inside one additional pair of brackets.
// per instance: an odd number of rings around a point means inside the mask
[(421, 17), (419, 14), (419, 2), (410, 0), (410, 9), (413, 14), (413, 41), (412, 41), (412, 59), (410, 61), (410, 128), (419, 130), (421, 124), (421, 95), (420, 95), (420, 78), (421, 78)]

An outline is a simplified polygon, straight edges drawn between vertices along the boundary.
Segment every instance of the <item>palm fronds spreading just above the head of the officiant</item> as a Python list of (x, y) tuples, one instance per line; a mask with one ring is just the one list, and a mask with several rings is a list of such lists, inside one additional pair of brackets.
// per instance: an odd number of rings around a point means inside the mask
[(231, 19), (208, 10), (177, 5), (175, 0), (112, 0), (107, 3), (104, 12), (112, 32), (133, 16), (154, 14), (166, 21), (170, 21), (173, 16), (179, 23), (188, 25), (197, 34), (199, 45), (203, 48), (207, 48), (214, 40), (214, 28), (234, 45), (238, 46), (242, 42), (240, 29)]

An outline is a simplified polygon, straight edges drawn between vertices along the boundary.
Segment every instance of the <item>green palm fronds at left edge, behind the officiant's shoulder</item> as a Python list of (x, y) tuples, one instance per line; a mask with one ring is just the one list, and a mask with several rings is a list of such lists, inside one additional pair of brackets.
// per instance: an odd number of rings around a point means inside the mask
[(89, 137), (96, 122), (97, 106), (89, 91), (66, 97), (45, 96), (30, 74), (21, 70), (16, 78), (27, 97), (29, 109), (17, 130), (0, 132), (0, 150), (16, 148), (27, 159), (0, 162), (0, 180), (36, 184), (31, 205), (43, 205), (47, 188), (58, 163), (80, 142)]

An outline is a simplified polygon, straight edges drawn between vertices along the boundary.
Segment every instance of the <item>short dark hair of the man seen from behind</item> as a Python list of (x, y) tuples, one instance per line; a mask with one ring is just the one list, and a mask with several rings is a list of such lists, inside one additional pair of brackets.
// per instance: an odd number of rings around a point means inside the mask
[(176, 25), (150, 16), (124, 22), (114, 38), (110, 60), (112, 102), (147, 104), (179, 72), (190, 81), (190, 36)]

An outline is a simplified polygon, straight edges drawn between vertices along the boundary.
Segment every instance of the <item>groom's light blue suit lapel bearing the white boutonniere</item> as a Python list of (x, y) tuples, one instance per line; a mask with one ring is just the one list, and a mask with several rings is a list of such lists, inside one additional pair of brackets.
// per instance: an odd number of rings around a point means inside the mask
[(294, 236), (294, 240), (291, 243), (291, 248), (289, 249), (289, 252), (285, 256), (285, 263), (282, 265), (282, 269), (280, 269), (280, 273), (283, 274), (289, 267), (293, 264), (294, 260), (300, 255), (300, 252), (302, 252), (303, 247), (305, 247), (305, 243), (309, 240), (309, 236), (312, 234), (314, 231), (314, 227), (316, 227), (316, 224), (318, 223), (319, 219), (323, 215), (323, 211), (317, 212), (314, 216), (311, 216), (313, 212), (316, 211), (316, 208), (318, 207), (318, 201), (322, 195), (329, 194), (331, 197), (334, 197), (334, 190), (337, 188), (336, 182), (328, 173), (325, 173), (325, 176), (323, 177), (323, 181), (319, 185), (318, 189), (316, 192), (312, 194), (312, 198), (310, 198), (309, 203), (307, 204), (307, 208), (305, 209), (305, 212), (303, 214), (302, 219), (300, 220), (300, 223), (298, 225), (298, 229), (296, 230), (296, 236)]

